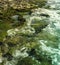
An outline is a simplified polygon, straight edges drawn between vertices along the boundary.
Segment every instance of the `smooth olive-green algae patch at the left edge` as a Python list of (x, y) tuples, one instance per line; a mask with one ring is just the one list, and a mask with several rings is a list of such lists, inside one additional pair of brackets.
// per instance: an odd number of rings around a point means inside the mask
[(0, 40), (3, 41), (3, 38), (6, 36), (6, 31), (10, 29), (11, 26), (9, 26), (9, 23), (6, 22), (0, 22)]

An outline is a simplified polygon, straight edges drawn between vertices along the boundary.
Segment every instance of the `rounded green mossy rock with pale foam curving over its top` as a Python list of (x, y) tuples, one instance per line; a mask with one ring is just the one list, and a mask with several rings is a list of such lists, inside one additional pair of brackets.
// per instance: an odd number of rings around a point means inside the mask
[(33, 18), (31, 21), (31, 26), (36, 30), (36, 32), (40, 32), (43, 28), (45, 28), (48, 25), (48, 22), (46, 19), (40, 20), (38, 18)]

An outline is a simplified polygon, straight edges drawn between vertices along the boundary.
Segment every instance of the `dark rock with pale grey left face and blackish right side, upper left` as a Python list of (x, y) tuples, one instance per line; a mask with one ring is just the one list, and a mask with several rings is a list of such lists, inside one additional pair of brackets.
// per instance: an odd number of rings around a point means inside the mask
[(22, 26), (26, 22), (22, 15), (14, 15), (11, 19), (13, 20), (12, 26), (14, 27)]

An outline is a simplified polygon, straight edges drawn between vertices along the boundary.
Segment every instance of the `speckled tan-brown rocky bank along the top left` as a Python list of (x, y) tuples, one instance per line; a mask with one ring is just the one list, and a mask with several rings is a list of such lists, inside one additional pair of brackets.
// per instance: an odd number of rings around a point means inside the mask
[(0, 2), (1, 6), (3, 8), (3, 10), (8, 10), (9, 7), (12, 7), (15, 10), (30, 10), (32, 8), (36, 8), (37, 6), (33, 3), (30, 4), (30, 1), (25, 1), (25, 0), (19, 0), (19, 1), (15, 1), (15, 0), (11, 0), (11, 1), (1, 1)]

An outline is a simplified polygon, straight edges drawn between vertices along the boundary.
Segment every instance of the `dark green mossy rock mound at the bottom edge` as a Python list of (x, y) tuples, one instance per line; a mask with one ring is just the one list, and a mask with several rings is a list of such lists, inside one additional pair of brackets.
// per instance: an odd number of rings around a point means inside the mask
[(40, 63), (31, 57), (25, 57), (19, 60), (17, 65), (40, 65)]

